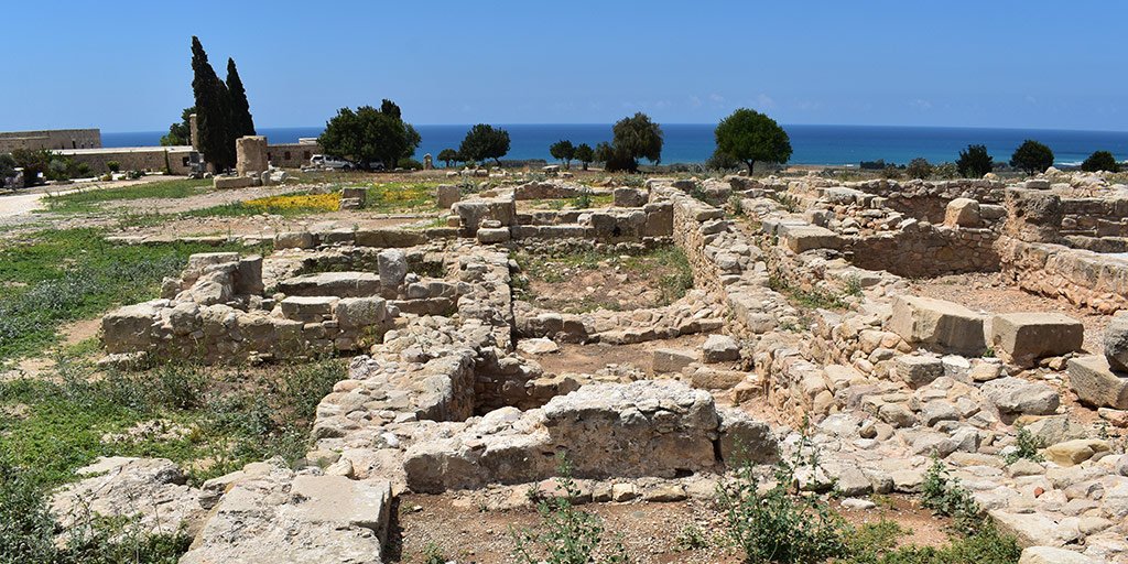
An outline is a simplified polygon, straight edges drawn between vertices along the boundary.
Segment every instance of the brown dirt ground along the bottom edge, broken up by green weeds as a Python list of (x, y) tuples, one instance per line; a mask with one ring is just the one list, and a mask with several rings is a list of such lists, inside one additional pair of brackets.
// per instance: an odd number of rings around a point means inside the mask
[[(712, 501), (589, 503), (579, 509), (599, 515), (608, 534), (605, 543), (617, 536), (635, 564), (741, 562), (738, 550), (722, 532), (724, 517)], [(946, 522), (906, 497), (885, 497), (873, 510), (839, 510), (855, 527), (881, 519), (896, 521), (913, 531), (901, 539), (902, 544), (940, 546), (948, 540)], [(459, 493), (403, 495), (397, 527), (389, 534), (391, 561), (423, 564), (428, 562), (425, 550), (438, 547), (443, 557), (460, 564), (517, 563), (513, 534), (536, 531), (539, 522), (531, 505), (485, 510), (470, 496)], [(690, 530), (700, 535), (705, 547), (686, 540)]]

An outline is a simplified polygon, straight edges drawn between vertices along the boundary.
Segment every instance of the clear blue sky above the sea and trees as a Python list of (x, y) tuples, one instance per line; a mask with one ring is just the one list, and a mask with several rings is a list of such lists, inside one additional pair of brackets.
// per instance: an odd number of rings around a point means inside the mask
[(781, 123), (1128, 131), (1128, 2), (1118, 1), (11, 1), (3, 11), (0, 131), (164, 130), (192, 104), (192, 35), (221, 76), (235, 58), (266, 127), (391, 98), (417, 124), (609, 123), (637, 111), (713, 123), (743, 106)]

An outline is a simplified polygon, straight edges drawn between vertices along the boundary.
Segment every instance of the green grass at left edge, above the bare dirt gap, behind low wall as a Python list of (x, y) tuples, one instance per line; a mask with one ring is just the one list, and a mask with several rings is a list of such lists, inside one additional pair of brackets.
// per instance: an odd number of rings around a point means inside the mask
[(60, 325), (152, 298), (188, 255), (250, 249), (116, 245), (98, 229), (47, 230), (0, 244), (0, 361), (54, 343)]

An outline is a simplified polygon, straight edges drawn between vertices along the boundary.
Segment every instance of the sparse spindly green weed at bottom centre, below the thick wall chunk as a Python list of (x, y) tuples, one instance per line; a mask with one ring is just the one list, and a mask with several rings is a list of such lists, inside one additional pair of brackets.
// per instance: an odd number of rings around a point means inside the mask
[(539, 530), (514, 531), (513, 555), (522, 564), (620, 564), (627, 562), (626, 550), (615, 543), (600, 550), (603, 537), (601, 520), (575, 508), (580, 488), (572, 479), (572, 465), (561, 456), (556, 484), (564, 491), (561, 497), (539, 500)]

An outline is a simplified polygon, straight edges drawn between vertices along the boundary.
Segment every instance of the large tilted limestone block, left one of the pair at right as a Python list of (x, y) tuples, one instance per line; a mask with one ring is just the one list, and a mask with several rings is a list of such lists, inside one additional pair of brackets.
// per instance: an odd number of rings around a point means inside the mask
[(979, 356), (986, 350), (984, 316), (950, 301), (898, 296), (889, 329), (936, 352)]

